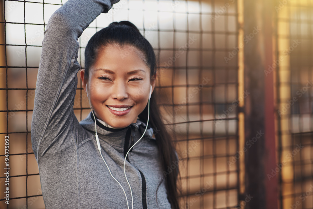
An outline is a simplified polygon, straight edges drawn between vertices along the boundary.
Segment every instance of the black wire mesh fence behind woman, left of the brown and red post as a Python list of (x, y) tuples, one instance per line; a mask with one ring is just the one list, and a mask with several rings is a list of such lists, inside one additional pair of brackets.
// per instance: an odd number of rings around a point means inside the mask
[[(0, 114), (5, 120), (0, 134), (3, 140), (10, 137), (9, 166), (2, 165), (10, 168), (11, 186), (7, 205), (2, 173), (1, 208), (44, 208), (30, 125), (44, 30), (64, 2), (3, 1)], [(235, 0), (121, 0), (79, 39), (82, 68), (88, 40), (113, 21), (131, 21), (153, 46), (158, 60), (156, 90), (162, 96), (159, 106), (167, 127), (176, 133), (182, 208), (240, 208), (239, 162), (234, 156), (238, 99), (244, 92), (238, 92), (237, 16)], [(74, 113), (81, 121), (89, 112), (79, 81)]]

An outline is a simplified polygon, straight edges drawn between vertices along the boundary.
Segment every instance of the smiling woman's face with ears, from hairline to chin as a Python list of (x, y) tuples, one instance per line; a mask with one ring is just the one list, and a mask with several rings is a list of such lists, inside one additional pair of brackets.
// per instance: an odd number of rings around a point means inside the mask
[(125, 128), (136, 123), (145, 109), (156, 75), (150, 79), (150, 69), (135, 47), (108, 45), (90, 67), (88, 81), (84, 79), (84, 70), (80, 77), (85, 91), (87, 84), (96, 117), (114, 128)]

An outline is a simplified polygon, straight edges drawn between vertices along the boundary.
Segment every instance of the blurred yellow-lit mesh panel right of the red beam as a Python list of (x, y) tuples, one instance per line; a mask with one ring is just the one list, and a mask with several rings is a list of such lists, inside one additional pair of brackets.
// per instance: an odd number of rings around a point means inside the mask
[(312, 6), (311, 0), (288, 1), (275, 8), (281, 208), (313, 207)]

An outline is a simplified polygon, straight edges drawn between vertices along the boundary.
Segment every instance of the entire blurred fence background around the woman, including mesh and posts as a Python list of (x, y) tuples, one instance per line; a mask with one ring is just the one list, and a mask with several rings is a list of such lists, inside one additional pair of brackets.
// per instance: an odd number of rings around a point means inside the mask
[[(3, 169), (0, 208), (44, 208), (30, 127), (44, 30), (65, 2), (1, 1), (10, 204)], [(81, 35), (78, 61), (84, 68), (88, 40), (113, 21), (131, 21), (149, 40), (159, 105), (176, 133), (182, 208), (313, 208), (312, 9), (312, 0), (120, 0)], [(80, 121), (90, 109), (78, 81)]]

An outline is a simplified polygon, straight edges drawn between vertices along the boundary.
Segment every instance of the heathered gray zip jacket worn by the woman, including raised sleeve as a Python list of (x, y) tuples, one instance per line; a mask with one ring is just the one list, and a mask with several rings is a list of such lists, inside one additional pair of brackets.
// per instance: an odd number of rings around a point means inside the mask
[[(44, 32), (31, 139), (47, 209), (127, 208), (121, 187), (110, 176), (97, 149), (94, 121), (89, 114), (79, 123), (73, 112), (80, 70), (77, 39), (101, 12), (107, 13), (117, 1), (69, 0), (51, 16)], [(131, 124), (135, 141), (144, 131), (142, 124), (145, 125), (139, 120)], [(97, 126), (103, 157), (123, 186), (131, 208), (131, 193), (123, 171), (126, 131), (127, 128), (111, 132)], [(139, 170), (146, 180), (147, 208), (171, 208), (165, 181), (157, 192), (158, 206), (156, 203), (156, 188), (163, 174), (152, 128), (147, 129), (128, 158), (125, 167), (134, 208), (143, 207)]]

